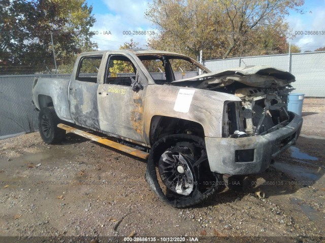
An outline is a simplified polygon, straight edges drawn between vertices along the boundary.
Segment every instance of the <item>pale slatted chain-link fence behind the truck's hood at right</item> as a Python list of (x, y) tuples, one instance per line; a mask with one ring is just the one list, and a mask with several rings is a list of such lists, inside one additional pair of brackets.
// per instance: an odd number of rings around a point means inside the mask
[(325, 97), (325, 52), (281, 54), (208, 60), (203, 64), (211, 71), (249, 65), (267, 65), (289, 71), (296, 76), (294, 93), (305, 97)]

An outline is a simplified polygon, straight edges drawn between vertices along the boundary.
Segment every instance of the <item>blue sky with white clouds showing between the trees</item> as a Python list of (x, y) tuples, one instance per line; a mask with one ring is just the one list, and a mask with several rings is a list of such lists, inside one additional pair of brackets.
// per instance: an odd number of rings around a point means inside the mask
[[(93, 6), (92, 13), (96, 23), (91, 28), (95, 33), (92, 40), (98, 43), (100, 50), (117, 50), (133, 38), (140, 48), (147, 48), (148, 34), (136, 34), (136, 31), (157, 31), (155, 26), (145, 18), (145, 11), (150, 1), (134, 0), (87, 0)], [(325, 0), (305, 0), (302, 7), (305, 14), (290, 11), (286, 22), (297, 31), (325, 31)], [(130, 34), (131, 33), (131, 34)], [(325, 34), (296, 34), (289, 39), (292, 44), (304, 51), (314, 51), (325, 46)]]

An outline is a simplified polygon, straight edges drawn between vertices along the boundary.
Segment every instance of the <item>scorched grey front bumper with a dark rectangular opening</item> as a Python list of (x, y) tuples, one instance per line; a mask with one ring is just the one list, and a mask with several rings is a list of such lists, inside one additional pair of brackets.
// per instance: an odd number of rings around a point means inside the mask
[(288, 112), (290, 123), (274, 132), (246, 138), (205, 138), (212, 172), (249, 175), (265, 171), (271, 159), (293, 145), (299, 137), (303, 118)]

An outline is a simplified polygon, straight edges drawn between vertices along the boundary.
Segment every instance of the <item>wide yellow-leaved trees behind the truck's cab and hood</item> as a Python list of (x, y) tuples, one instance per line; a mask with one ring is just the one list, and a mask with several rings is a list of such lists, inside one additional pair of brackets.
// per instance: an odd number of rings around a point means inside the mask
[(159, 29), (149, 46), (196, 58), (283, 53), (288, 10), (303, 0), (154, 0), (146, 17)]

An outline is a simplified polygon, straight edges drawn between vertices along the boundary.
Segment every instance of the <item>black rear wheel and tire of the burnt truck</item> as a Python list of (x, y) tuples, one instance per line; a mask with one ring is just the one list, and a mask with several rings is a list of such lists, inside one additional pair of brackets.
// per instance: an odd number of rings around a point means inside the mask
[(64, 140), (66, 131), (57, 127), (60, 122), (54, 107), (44, 107), (40, 110), (39, 130), (45, 143), (55, 144)]

